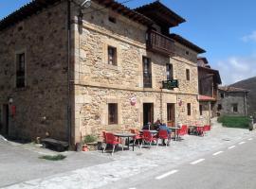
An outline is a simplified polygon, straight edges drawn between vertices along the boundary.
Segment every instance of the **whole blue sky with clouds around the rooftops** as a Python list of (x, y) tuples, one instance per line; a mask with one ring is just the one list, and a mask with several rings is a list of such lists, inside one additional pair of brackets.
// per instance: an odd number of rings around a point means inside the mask
[[(0, 19), (30, 0), (1, 0)], [(119, 3), (127, 0), (118, 0)], [(131, 0), (124, 5), (137, 8), (154, 0)], [(207, 51), (213, 69), (220, 71), (224, 85), (256, 77), (255, 0), (160, 0), (186, 23), (171, 28)]]

